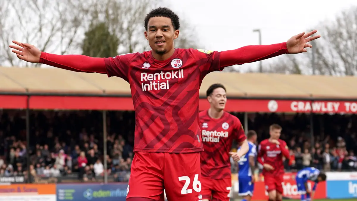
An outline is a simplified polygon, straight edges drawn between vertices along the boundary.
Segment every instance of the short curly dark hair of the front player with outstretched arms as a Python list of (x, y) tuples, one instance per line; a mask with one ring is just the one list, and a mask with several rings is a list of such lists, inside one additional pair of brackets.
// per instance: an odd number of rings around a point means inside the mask
[(178, 16), (172, 11), (171, 9), (165, 8), (165, 7), (160, 7), (157, 9), (153, 9), (148, 13), (145, 17), (145, 30), (147, 30), (147, 24), (149, 23), (150, 18), (154, 17), (166, 17), (171, 19), (172, 26), (174, 26), (174, 29), (180, 29), (180, 21), (178, 19)]

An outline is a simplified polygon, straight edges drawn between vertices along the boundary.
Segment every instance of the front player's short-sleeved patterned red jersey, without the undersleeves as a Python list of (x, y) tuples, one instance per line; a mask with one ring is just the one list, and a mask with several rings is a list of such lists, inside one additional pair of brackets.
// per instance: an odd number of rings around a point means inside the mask
[(105, 58), (108, 77), (130, 84), (135, 109), (134, 151), (199, 152), (203, 150), (198, 126), (202, 79), (222, 70), (220, 52), (175, 49), (167, 60), (151, 51)]

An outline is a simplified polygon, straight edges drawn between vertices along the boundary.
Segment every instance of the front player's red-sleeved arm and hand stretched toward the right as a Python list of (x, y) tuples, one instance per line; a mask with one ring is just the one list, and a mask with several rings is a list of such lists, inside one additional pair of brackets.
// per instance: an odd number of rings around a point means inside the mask
[[(284, 43), (272, 45), (249, 45), (235, 50), (223, 51), (220, 54), (220, 68), (231, 65), (240, 65), (276, 57), (282, 54), (297, 54), (307, 52), (305, 48), (311, 48), (308, 42), (320, 38), (320, 35), (311, 36), (317, 31), (313, 30), (307, 34), (300, 33), (291, 37)], [(311, 36), (311, 37), (310, 37)]]

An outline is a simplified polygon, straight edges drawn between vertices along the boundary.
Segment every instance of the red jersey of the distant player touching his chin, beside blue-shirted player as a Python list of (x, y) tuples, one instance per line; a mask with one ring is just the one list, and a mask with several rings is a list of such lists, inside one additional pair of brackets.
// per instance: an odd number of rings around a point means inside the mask
[(260, 142), (258, 147), (258, 161), (259, 158), (262, 158), (263, 163), (267, 163), (274, 167), (272, 171), (266, 171), (263, 168), (263, 175), (281, 175), (284, 173), (284, 164), (283, 164), (283, 152), (287, 152), (286, 142), (282, 139), (278, 139), (280, 145), (270, 142), (268, 139), (265, 139)]

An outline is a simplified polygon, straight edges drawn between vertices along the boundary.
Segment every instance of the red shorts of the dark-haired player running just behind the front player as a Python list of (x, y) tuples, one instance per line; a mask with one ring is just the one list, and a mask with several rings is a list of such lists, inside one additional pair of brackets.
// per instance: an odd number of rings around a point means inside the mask
[(212, 179), (202, 177), (202, 200), (229, 201), (231, 198), (232, 178)]

